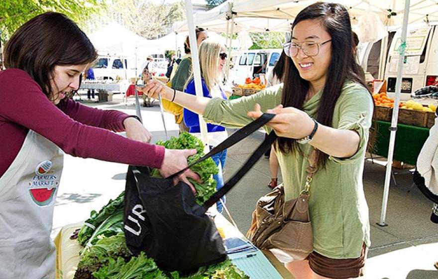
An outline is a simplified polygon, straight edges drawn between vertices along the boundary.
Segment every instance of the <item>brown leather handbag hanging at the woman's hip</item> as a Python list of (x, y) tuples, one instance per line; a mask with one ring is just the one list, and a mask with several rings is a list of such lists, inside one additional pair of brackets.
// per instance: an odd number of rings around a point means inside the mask
[(313, 251), (309, 217), (312, 176), (316, 172), (316, 150), (309, 156), (304, 190), (296, 199), (284, 201), (283, 185), (261, 197), (252, 213), (247, 238), (259, 249), (280, 249), (294, 260), (304, 260)]

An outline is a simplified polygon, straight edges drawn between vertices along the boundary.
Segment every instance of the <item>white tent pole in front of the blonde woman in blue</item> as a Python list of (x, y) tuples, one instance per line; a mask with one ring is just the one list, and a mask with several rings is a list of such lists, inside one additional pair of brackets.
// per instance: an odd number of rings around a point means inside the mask
[[(196, 96), (203, 97), (204, 94), (202, 90), (201, 67), (199, 65), (198, 44), (195, 34), (195, 21), (193, 18), (193, 6), (191, 0), (185, 0), (185, 2), (186, 2), (187, 24), (189, 28), (190, 50), (192, 54), (193, 75), (195, 78)], [(204, 143), (204, 152), (208, 153), (210, 151), (210, 147), (209, 147), (209, 139), (207, 135), (208, 133), (207, 124), (202, 118), (202, 115), (199, 115), (199, 126), (201, 128), (201, 139), (202, 142)]]

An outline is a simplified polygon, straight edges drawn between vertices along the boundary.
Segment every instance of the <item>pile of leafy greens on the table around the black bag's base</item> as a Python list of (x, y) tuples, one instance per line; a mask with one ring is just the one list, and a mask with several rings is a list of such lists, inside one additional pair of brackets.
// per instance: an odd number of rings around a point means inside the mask
[[(134, 257), (126, 247), (123, 227), (123, 193), (104, 206), (99, 213), (92, 211), (84, 225), (81, 240), (84, 246), (74, 279), (248, 279), (230, 260), (201, 267), (192, 274), (164, 272), (144, 253)], [(109, 212), (112, 214), (109, 215)], [(109, 216), (108, 216), (109, 215)], [(104, 220), (99, 223), (98, 220)], [(88, 229), (87, 229), (88, 228)], [(90, 230), (89, 230), (90, 229)]]

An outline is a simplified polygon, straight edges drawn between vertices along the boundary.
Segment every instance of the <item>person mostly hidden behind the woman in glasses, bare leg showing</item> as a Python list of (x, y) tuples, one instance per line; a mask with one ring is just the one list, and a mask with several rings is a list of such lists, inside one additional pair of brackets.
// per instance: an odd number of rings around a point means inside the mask
[[(275, 66), (271, 72), (269, 72), (266, 79), (266, 87), (274, 86), (283, 82), (284, 67), (286, 64), (287, 56), (283, 51), (280, 58), (275, 62)], [(268, 134), (265, 135), (267, 137)], [(274, 148), (269, 148), (265, 153), (265, 157), (269, 157), (269, 170), (271, 171), (271, 181), (268, 183), (268, 187), (274, 189), (278, 185), (278, 164), (277, 155), (275, 154)]]

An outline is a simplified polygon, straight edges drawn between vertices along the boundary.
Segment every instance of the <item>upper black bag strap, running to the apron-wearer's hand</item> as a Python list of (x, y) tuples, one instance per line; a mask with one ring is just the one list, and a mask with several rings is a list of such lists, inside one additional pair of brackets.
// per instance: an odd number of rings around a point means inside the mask
[(193, 162), (192, 164), (190, 164), (186, 168), (183, 168), (182, 170), (166, 177), (166, 179), (173, 179), (173, 178), (177, 177), (178, 175), (180, 175), (181, 173), (183, 173), (184, 171), (188, 170), (193, 165), (196, 165), (197, 163), (202, 162), (202, 161), (210, 158), (211, 156), (213, 156), (219, 152), (222, 152), (226, 148), (233, 146), (234, 144), (236, 144), (240, 140), (245, 139), (246, 137), (248, 137), (249, 135), (251, 135), (252, 133), (257, 131), (260, 127), (264, 126), (272, 118), (274, 118), (274, 116), (275, 116), (275, 114), (264, 113), (261, 117), (259, 117), (255, 121), (251, 122), (250, 124), (246, 125), (242, 129), (238, 130), (237, 132), (235, 132), (234, 134), (229, 136), (224, 141), (220, 142), (218, 146), (216, 146), (215, 148), (210, 150), (210, 152), (205, 154), (203, 157), (199, 158), (198, 160), (196, 160), (195, 162)]

